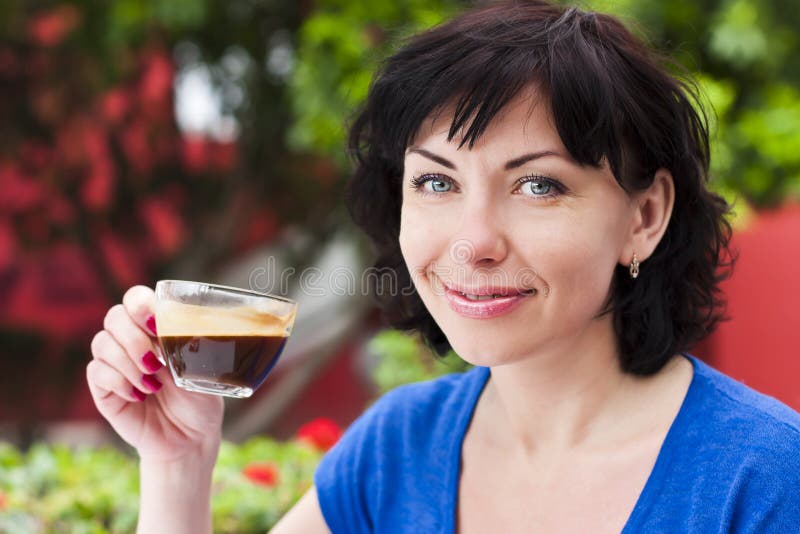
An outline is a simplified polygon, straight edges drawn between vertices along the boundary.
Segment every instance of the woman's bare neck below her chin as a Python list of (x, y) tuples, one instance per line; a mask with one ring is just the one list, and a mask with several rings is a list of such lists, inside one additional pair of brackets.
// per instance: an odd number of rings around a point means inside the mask
[(493, 367), (482, 401), (498, 443), (531, 456), (607, 444), (647, 381), (622, 371), (605, 318), (566, 343)]

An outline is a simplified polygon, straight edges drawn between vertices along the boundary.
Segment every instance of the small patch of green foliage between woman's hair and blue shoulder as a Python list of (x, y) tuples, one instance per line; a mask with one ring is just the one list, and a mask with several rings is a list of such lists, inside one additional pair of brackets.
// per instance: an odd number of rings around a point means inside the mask
[(418, 335), (399, 330), (380, 332), (370, 340), (368, 349), (377, 359), (372, 379), (381, 393), (402, 384), (431, 380), (470, 368), (452, 350), (437, 357)]

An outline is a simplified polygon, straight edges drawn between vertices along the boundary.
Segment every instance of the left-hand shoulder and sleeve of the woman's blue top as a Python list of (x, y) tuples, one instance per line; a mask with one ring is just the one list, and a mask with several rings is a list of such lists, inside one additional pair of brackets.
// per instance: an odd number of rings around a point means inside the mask
[(457, 473), (461, 431), (488, 374), (479, 367), (400, 386), (350, 425), (314, 474), (329, 528), (371, 532), (413, 523), (421, 532), (438, 530), (443, 474)]

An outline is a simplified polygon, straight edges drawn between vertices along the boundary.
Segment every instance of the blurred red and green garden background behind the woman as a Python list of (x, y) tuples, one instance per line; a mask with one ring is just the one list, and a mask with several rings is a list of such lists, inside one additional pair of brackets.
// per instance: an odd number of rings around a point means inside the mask
[[(345, 126), (379, 60), (465, 5), (0, 3), (0, 531), (132, 529), (135, 463), (84, 376), (131, 285), (196, 279), (299, 300), (276, 371), (226, 407), (218, 531), (264, 531), (371, 399), (462, 367), (343, 290), (370, 251), (341, 193)], [(579, 5), (621, 16), (701, 83), (740, 260), (724, 286), (731, 320), (694, 352), (800, 409), (800, 10)]]

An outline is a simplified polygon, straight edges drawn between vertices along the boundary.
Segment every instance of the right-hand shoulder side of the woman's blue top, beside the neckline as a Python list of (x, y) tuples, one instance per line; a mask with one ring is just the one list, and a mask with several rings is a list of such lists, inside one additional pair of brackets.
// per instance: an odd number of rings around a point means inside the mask
[(689, 359), (694, 376), (634, 530), (800, 532), (800, 415)]

